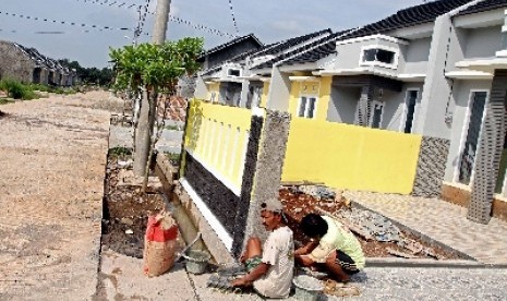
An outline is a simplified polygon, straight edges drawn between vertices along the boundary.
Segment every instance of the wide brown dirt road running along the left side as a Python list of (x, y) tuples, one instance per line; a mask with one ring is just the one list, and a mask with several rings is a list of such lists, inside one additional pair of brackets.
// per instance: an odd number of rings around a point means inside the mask
[(0, 300), (88, 300), (97, 285), (109, 93), (0, 106)]

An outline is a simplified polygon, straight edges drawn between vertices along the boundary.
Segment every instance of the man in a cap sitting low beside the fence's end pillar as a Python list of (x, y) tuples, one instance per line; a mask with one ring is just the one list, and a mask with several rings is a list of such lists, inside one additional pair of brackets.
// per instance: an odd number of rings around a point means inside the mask
[(246, 265), (244, 277), (232, 281), (236, 287), (253, 286), (266, 298), (289, 297), (294, 268), (292, 230), (287, 227), (280, 201), (271, 198), (261, 205), (263, 226), (269, 236), (261, 245), (258, 238), (250, 238), (240, 261)]

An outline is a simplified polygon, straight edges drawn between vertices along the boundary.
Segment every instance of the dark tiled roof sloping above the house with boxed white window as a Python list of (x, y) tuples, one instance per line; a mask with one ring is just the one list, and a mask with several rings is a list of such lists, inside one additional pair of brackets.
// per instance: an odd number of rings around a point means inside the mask
[(294, 55), (294, 57), (285, 61), (283, 64), (316, 62), (335, 51), (335, 44), (337, 40), (381, 34), (388, 31), (434, 22), (437, 16), (457, 9), (470, 1), (471, 0), (439, 0), (400, 10), (378, 22), (371, 23), (358, 29), (350, 29), (348, 31), (348, 34), (346, 33), (347, 31), (342, 32), (346, 34), (334, 34), (329, 36), (326, 41), (322, 43), (322, 45), (316, 46), (310, 51), (304, 51), (304, 49), (302, 49), (303, 51), (301, 51), (300, 55)]

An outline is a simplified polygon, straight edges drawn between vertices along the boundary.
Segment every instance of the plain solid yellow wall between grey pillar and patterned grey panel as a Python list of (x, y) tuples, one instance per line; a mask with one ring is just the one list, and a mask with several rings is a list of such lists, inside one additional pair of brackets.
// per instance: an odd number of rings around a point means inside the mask
[(293, 118), (282, 181), (409, 194), (421, 135)]

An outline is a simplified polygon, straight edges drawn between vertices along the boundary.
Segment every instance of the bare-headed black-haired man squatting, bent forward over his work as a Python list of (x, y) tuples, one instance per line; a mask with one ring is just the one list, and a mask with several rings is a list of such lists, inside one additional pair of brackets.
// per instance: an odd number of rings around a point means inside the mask
[(304, 266), (324, 267), (338, 281), (347, 282), (350, 275), (364, 268), (364, 254), (354, 234), (338, 220), (309, 214), (300, 222), (302, 232), (312, 238), (294, 252), (295, 261)]

